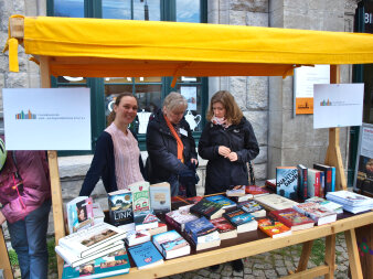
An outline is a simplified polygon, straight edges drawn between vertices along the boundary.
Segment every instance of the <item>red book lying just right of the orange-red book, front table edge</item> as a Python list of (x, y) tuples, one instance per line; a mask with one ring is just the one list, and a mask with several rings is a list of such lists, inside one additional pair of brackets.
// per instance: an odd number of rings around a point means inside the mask
[(289, 227), (292, 232), (311, 228), (315, 225), (313, 219), (300, 214), (294, 208), (280, 211), (271, 211), (270, 216), (274, 216), (278, 222)]

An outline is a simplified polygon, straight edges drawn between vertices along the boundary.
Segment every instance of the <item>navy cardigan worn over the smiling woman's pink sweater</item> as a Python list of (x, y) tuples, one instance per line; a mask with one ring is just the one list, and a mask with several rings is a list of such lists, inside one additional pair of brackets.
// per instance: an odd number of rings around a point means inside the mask
[[(132, 132), (132, 131), (131, 131)], [(135, 132), (134, 137), (137, 139)], [(143, 163), (141, 154), (139, 167), (143, 176)], [(89, 196), (98, 180), (102, 179), (107, 193), (117, 191), (117, 179), (115, 175), (114, 144), (110, 133), (103, 131), (96, 142), (96, 150), (90, 168), (84, 179), (79, 195)]]

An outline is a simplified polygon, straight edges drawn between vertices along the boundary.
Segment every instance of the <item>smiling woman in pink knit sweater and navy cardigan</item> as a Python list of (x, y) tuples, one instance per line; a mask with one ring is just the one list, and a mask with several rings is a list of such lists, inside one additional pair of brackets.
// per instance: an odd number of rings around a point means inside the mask
[(99, 179), (107, 193), (128, 189), (135, 182), (143, 181), (143, 164), (137, 137), (128, 127), (138, 110), (136, 97), (120, 94), (109, 116), (109, 126), (97, 139), (90, 168), (84, 179), (79, 195), (89, 196)]

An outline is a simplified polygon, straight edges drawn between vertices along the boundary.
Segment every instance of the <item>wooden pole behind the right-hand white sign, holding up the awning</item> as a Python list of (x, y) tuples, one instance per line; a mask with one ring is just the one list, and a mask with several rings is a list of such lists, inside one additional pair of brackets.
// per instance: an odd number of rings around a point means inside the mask
[[(339, 84), (341, 82), (340, 65), (330, 65), (330, 83)], [(347, 190), (347, 182), (339, 146), (340, 128), (329, 129), (329, 146), (326, 155), (326, 164), (335, 167), (335, 190)]]

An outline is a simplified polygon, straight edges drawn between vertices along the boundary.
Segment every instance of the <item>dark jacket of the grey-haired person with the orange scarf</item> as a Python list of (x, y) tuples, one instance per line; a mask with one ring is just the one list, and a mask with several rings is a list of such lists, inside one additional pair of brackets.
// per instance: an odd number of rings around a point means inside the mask
[[(189, 162), (192, 158), (196, 159), (195, 142), (192, 131), (185, 118), (180, 121), (180, 129), (188, 132), (188, 137), (180, 135), (184, 144), (184, 162)], [(151, 171), (148, 173), (150, 183), (164, 182), (171, 179), (171, 175), (178, 175), (181, 171), (188, 170), (188, 167), (178, 159), (178, 143), (173, 138), (163, 117), (163, 112), (159, 109), (152, 119), (150, 119), (147, 129), (147, 150), (150, 159)], [(148, 169), (147, 161), (147, 169)]]

